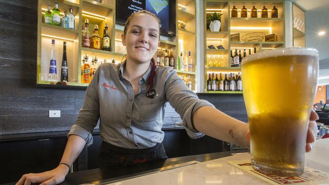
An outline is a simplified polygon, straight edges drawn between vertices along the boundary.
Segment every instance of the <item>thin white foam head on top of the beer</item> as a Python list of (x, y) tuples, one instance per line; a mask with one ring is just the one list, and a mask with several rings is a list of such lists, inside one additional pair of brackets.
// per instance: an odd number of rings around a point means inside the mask
[(266, 52), (259, 52), (242, 59), (242, 64), (254, 60), (260, 60), (269, 57), (291, 56), (291, 55), (310, 55), (318, 56), (319, 52), (314, 48), (280, 48)]

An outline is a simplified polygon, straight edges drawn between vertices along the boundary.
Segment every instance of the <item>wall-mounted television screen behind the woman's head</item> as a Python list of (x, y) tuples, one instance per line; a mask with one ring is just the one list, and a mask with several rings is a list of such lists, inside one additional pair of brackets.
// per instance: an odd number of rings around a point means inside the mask
[(140, 10), (152, 12), (160, 19), (161, 34), (176, 35), (176, 0), (116, 0), (116, 23), (124, 25), (132, 13)]

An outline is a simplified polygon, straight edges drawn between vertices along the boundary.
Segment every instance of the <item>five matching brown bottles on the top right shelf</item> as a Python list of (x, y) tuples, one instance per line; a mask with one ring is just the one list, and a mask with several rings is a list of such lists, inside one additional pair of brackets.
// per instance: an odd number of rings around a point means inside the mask
[[(231, 17), (237, 18), (237, 12), (238, 12), (237, 8), (233, 6), (231, 10)], [(248, 17), (248, 10), (245, 8), (245, 6), (243, 6), (243, 8), (241, 9), (241, 17), (242, 18)], [(257, 18), (257, 8), (255, 8), (255, 6), (253, 6), (253, 9), (251, 9), (250, 17)], [(261, 17), (268, 18), (268, 9), (265, 6), (262, 9)], [(277, 8), (275, 8), (275, 6), (273, 6), (273, 9), (271, 10), (271, 18), (278, 18), (278, 10)]]

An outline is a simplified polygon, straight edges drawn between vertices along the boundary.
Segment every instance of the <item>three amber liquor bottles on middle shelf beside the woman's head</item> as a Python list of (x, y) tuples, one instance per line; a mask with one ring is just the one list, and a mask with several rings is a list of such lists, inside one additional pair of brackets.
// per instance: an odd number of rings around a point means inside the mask
[(98, 24), (95, 24), (94, 33), (90, 36), (89, 19), (85, 19), (85, 26), (82, 29), (82, 47), (95, 50), (110, 51), (110, 36), (108, 35), (108, 25), (105, 23), (103, 38), (98, 34)]

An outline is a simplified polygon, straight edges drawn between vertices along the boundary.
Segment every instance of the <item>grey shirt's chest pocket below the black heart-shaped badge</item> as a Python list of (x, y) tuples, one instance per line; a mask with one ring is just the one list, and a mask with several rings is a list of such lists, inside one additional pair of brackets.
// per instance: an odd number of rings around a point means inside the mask
[(144, 99), (139, 106), (139, 118), (141, 122), (155, 121), (159, 122), (162, 114), (162, 97), (154, 99)]

